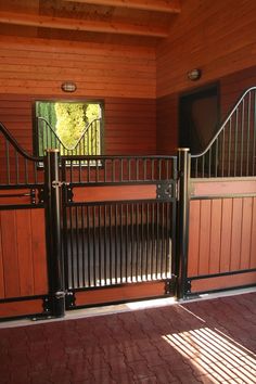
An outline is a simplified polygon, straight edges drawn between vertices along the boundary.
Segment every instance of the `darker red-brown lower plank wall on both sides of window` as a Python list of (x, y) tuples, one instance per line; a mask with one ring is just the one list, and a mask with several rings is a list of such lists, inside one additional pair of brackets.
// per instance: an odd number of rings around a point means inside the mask
[[(0, 93), (0, 121), (28, 152), (33, 151), (33, 103), (38, 99), (52, 98)], [(105, 154), (156, 153), (155, 100), (105, 98), (104, 105)]]

